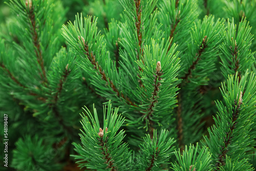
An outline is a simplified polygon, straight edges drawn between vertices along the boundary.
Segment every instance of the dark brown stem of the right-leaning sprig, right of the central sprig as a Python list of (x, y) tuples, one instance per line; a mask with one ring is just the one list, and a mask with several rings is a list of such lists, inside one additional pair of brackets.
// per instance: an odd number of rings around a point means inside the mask
[(192, 65), (189, 67), (188, 72), (185, 74), (185, 76), (181, 77), (186, 82), (190, 82), (190, 81), (187, 81), (187, 79), (189, 78), (189, 76), (191, 76), (192, 71), (195, 70), (196, 65), (198, 64), (198, 61), (201, 60), (200, 56), (202, 55), (205, 48), (207, 47), (206, 42), (207, 42), (207, 36), (204, 36), (203, 42), (198, 50), (198, 53), (196, 54), (196, 58), (197, 58), (196, 61), (193, 61)]

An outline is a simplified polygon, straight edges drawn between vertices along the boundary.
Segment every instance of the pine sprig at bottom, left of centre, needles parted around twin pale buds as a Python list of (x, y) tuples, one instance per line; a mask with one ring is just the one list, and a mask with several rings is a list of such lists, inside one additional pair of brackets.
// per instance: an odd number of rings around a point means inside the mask
[[(75, 151), (81, 156), (74, 156), (79, 159), (80, 167), (97, 170), (129, 170), (132, 163), (129, 162), (131, 152), (129, 152), (127, 144), (122, 142), (124, 138), (124, 131), (120, 126), (124, 122), (124, 118), (118, 115), (118, 109), (111, 109), (109, 101), (108, 111), (106, 106), (103, 109), (103, 129), (100, 127), (96, 109), (94, 109), (94, 116), (87, 109), (86, 115), (83, 117), (81, 124), (83, 131), (80, 135), (81, 143), (73, 143)], [(84, 163), (84, 161), (87, 161)], [(97, 163), (97, 165), (95, 165)]]

